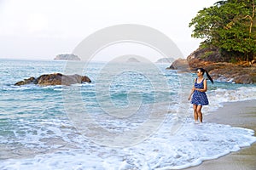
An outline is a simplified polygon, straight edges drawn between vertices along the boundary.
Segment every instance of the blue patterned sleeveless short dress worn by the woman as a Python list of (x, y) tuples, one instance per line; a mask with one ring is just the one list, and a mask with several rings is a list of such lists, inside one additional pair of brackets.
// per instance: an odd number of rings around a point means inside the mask
[[(203, 79), (200, 83), (197, 83), (197, 78), (195, 79), (195, 88), (204, 88), (204, 80)], [(208, 105), (207, 94), (205, 92), (200, 92), (195, 90), (193, 97), (191, 99), (191, 103), (194, 105)]]

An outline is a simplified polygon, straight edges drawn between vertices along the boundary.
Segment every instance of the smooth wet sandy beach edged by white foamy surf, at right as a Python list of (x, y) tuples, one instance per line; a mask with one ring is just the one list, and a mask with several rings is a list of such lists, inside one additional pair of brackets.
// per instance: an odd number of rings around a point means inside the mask
[[(204, 122), (229, 124), (232, 127), (246, 127), (256, 132), (256, 100), (224, 103), (207, 116)], [(255, 134), (254, 134), (255, 135)], [(203, 161), (201, 165), (186, 168), (188, 170), (253, 170), (256, 169), (256, 143), (250, 147), (231, 152), (215, 160)]]

